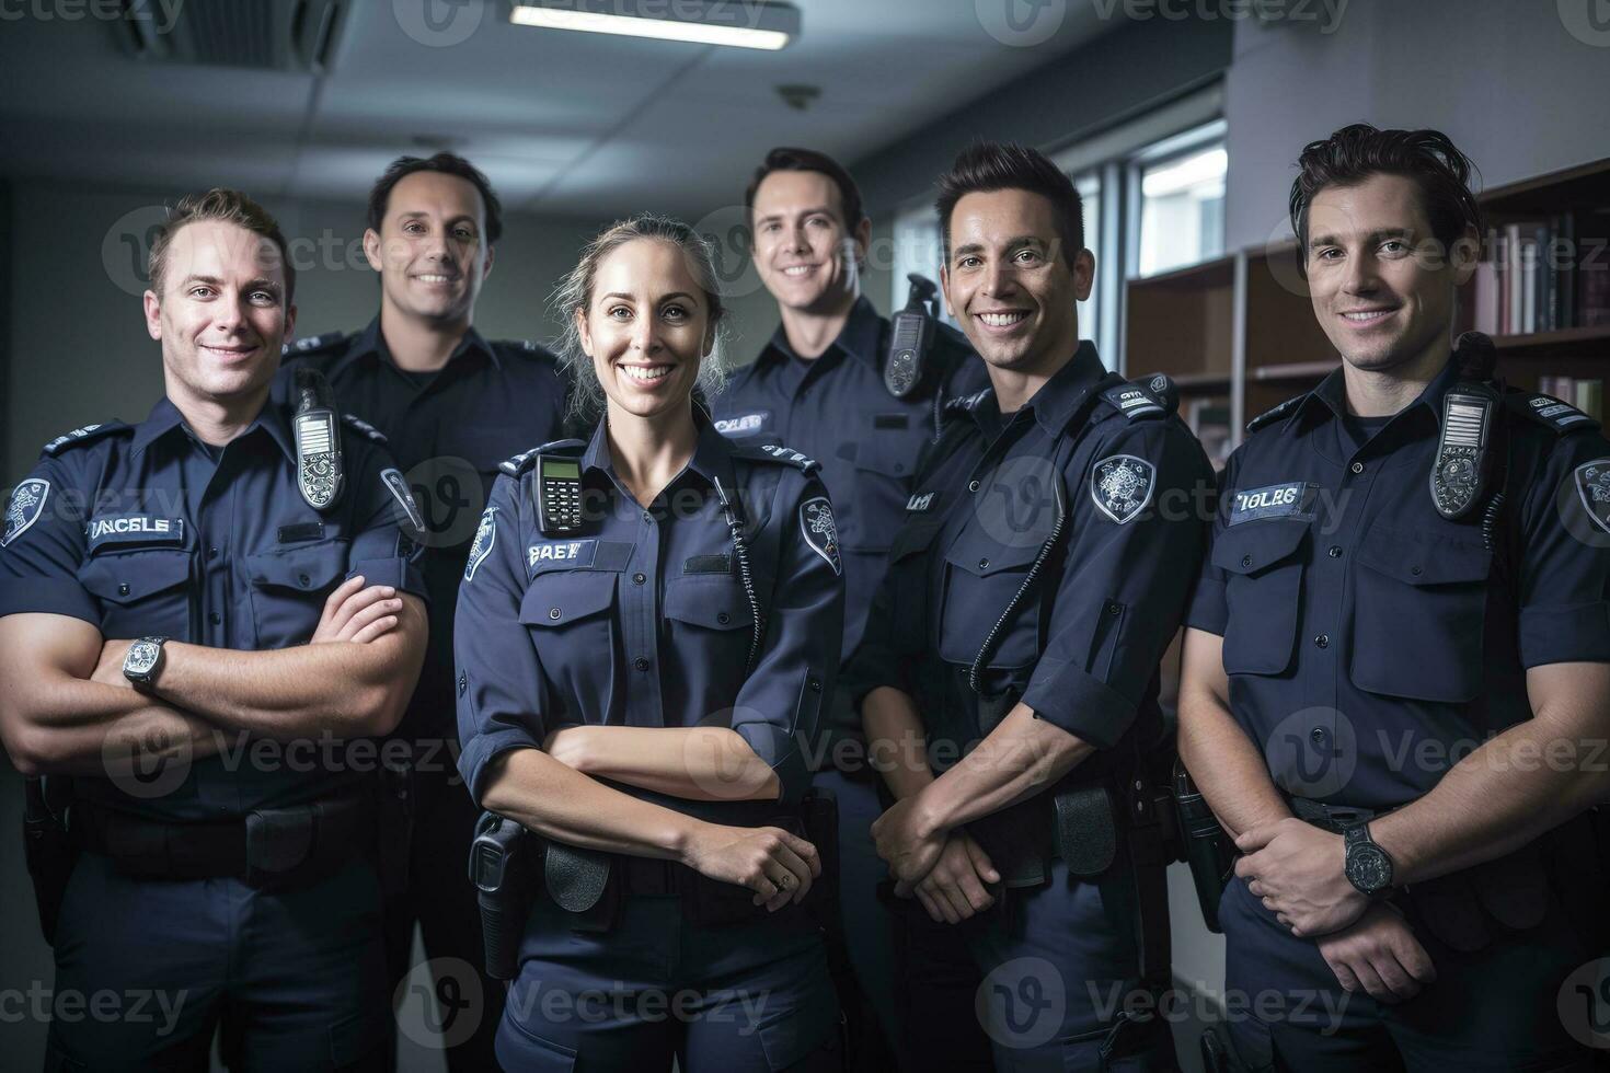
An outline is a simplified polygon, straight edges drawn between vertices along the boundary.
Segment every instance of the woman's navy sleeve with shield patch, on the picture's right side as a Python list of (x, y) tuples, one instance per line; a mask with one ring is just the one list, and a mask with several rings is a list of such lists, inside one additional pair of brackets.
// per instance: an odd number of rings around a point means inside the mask
[[(823, 706), (839, 674), (844, 643), (844, 576), (805, 539), (805, 510), (826, 500), (821, 481), (789, 475), (774, 504), (782, 512), (778, 576), (766, 602), (766, 632), (760, 656), (733, 706), (733, 730), (765, 761), (782, 783), (779, 800), (797, 803), (810, 788), (807, 758), (815, 750)], [(802, 489), (802, 491), (800, 491)]]

